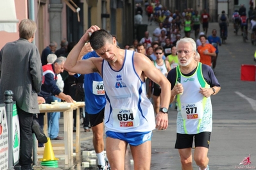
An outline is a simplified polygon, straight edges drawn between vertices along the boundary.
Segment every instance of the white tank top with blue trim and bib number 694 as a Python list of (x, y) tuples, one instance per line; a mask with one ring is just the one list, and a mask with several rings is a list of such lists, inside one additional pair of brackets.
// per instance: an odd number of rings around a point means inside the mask
[(132, 50), (125, 50), (123, 67), (119, 71), (103, 61), (106, 132), (148, 132), (155, 128), (153, 105), (146, 97), (145, 82), (135, 71), (133, 54)]

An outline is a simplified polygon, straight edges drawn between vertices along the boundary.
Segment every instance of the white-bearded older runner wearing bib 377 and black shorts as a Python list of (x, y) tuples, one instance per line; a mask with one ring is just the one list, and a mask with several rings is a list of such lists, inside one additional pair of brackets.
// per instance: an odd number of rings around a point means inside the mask
[(177, 43), (179, 64), (167, 79), (171, 82), (171, 102), (177, 96), (175, 148), (180, 153), (183, 170), (192, 169), (192, 143), (195, 142), (194, 160), (201, 170), (209, 170), (207, 153), (212, 132), (212, 102), (220, 88), (212, 69), (194, 60), (196, 43), (183, 38)]

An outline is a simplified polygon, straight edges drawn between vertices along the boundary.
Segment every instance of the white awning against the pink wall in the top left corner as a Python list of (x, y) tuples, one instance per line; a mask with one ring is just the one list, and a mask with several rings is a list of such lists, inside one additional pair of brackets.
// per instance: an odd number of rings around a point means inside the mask
[(0, 0), (0, 31), (16, 33), (18, 22), (14, 0)]

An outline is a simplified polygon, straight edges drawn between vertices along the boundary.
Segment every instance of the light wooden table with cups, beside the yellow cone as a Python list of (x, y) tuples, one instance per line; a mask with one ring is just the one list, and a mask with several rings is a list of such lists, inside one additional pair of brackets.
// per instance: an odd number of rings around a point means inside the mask
[[(53, 105), (51, 105), (53, 106)], [(76, 109), (76, 153), (80, 153), (80, 108), (85, 107), (85, 102), (76, 102), (70, 107), (40, 108), (44, 112), (44, 134), (48, 134), (48, 112), (64, 113), (64, 146), (65, 146), (65, 165), (73, 166), (73, 110)]]

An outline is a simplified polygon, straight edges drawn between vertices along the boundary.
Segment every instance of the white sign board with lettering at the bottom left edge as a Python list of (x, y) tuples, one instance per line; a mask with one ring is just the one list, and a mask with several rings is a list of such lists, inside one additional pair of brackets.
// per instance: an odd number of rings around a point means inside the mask
[(8, 126), (5, 105), (0, 105), (0, 169), (8, 169)]

